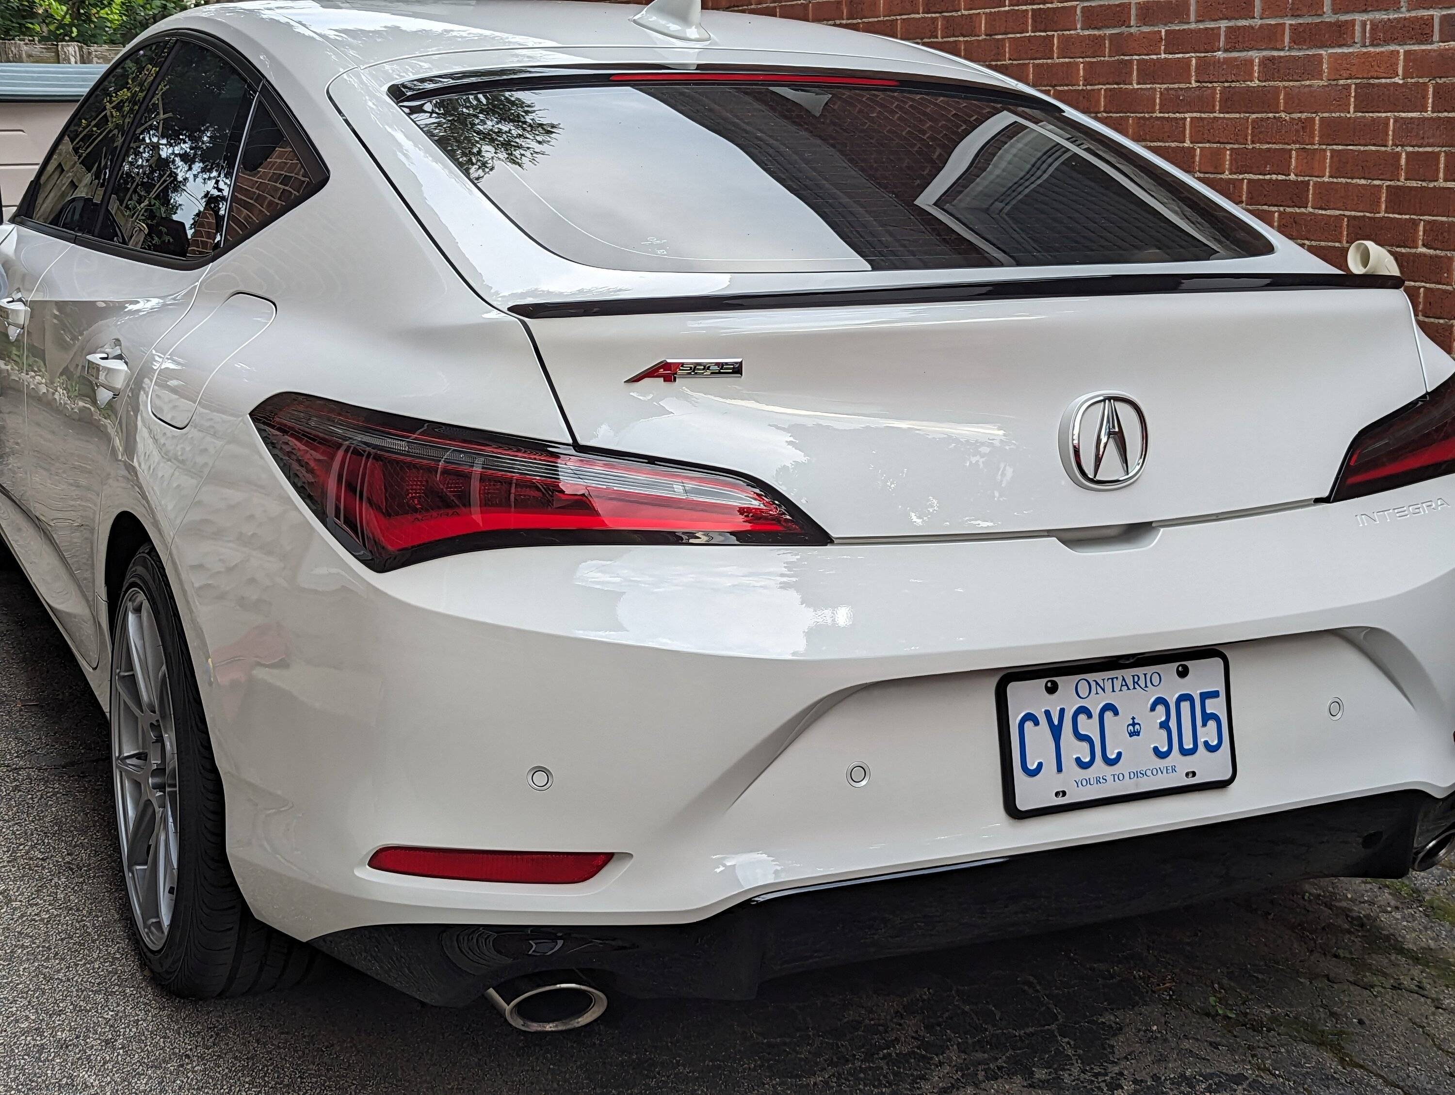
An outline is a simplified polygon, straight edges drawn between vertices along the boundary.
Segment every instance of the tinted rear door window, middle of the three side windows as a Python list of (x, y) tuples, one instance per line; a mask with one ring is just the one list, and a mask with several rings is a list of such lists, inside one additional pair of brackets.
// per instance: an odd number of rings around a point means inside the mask
[(252, 89), (227, 61), (180, 42), (143, 111), (96, 236), (175, 259), (217, 250), (252, 105)]

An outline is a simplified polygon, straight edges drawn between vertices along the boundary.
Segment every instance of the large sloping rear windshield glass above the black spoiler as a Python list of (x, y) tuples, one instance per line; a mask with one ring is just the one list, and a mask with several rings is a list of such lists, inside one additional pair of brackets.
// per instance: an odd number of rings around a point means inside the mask
[(792, 77), (615, 80), (404, 109), (522, 231), (589, 266), (912, 270), (1273, 250), (1053, 108)]

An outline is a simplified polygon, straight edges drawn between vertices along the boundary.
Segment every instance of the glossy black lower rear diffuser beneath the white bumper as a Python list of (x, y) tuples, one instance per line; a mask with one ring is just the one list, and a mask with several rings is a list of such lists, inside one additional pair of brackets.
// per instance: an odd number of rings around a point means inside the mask
[(787, 973), (1176, 907), (1318, 877), (1398, 878), (1455, 797), (1372, 795), (902, 878), (789, 890), (691, 925), (381, 925), (314, 939), (428, 1003), (588, 970), (629, 996), (749, 999)]

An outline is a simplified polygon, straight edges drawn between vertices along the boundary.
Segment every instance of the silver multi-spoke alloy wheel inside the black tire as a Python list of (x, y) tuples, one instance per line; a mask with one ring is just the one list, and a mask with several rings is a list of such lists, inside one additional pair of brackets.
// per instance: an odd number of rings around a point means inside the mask
[(178, 884), (178, 737), (157, 618), (135, 586), (121, 602), (111, 676), (111, 752), (127, 896), (143, 942), (160, 951)]

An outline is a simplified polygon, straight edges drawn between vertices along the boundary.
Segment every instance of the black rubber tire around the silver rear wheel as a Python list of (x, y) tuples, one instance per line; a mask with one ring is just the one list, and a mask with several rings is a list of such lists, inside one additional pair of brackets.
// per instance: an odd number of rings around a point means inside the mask
[[(320, 955), (307, 944), (258, 920), (237, 889), (224, 842), (223, 781), (212, 761), (196, 678), (166, 573), (150, 547), (135, 554), (122, 580), (121, 596), (113, 606), (113, 649), (125, 641), (121, 628), (125, 606), (137, 603), (132, 590), (140, 592), (151, 609), (164, 657), (178, 803), (176, 887), (170, 925), (160, 948), (154, 950), (144, 938), (140, 913), (128, 897), (132, 936), (153, 980), (178, 996), (242, 996), (295, 984), (308, 976)], [(121, 702), (116, 654), (111, 678), (115, 720), (116, 704)], [(119, 787), (121, 779), (116, 782)], [(125, 862), (122, 871), (125, 877)]]

